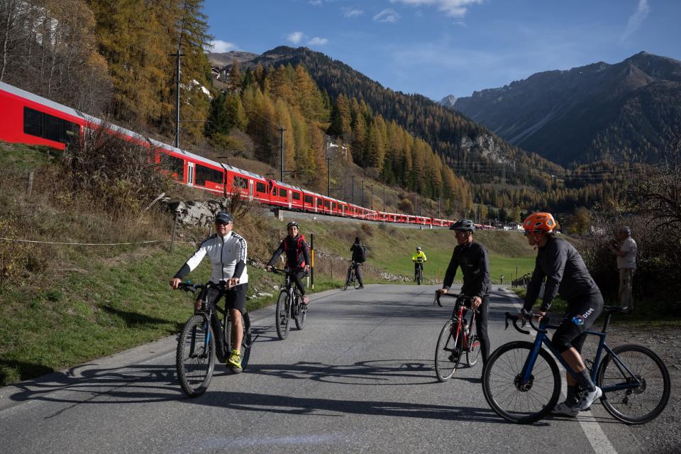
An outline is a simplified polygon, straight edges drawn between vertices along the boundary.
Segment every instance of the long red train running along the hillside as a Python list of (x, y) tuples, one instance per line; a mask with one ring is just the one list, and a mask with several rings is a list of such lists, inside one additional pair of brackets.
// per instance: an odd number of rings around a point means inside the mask
[[(0, 82), (0, 140), (65, 150), (79, 140), (84, 128), (101, 123), (99, 118)], [(113, 129), (123, 138), (159, 150), (164, 156), (159, 154), (156, 159), (163, 158), (178, 182), (216, 194), (240, 194), (249, 201), (284, 209), (369, 221), (437, 227), (448, 227), (454, 222), (367, 209), (194, 155), (125, 128), (113, 126)]]

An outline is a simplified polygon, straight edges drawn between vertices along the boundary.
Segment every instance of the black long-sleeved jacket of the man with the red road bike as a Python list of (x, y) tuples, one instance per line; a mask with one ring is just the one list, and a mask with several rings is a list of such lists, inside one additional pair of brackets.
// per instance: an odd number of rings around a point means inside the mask
[(456, 268), (461, 267), (463, 272), (463, 287), (461, 293), (470, 297), (484, 297), (489, 295), (491, 285), (489, 283), (489, 259), (487, 249), (480, 243), (468, 243), (457, 245), (449, 262), (443, 289), (451, 287), (456, 275)]

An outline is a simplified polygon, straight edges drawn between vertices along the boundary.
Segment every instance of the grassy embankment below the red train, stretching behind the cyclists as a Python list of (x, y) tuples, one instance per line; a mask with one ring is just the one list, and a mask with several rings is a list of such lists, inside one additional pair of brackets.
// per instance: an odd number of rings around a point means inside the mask
[[(42, 150), (0, 144), (0, 237), (48, 242), (128, 243), (151, 245), (82, 246), (9, 243), (0, 240), (0, 385), (26, 380), (93, 358), (109, 355), (179, 331), (192, 313), (189, 296), (172, 292), (167, 279), (192, 253), (204, 231), (181, 233), (172, 254), (168, 240), (172, 218), (160, 212), (116, 216), (79, 201), (62, 186), (55, 162)], [(31, 196), (26, 179), (35, 171)], [(187, 196), (186, 189), (182, 189)], [(176, 194), (177, 195), (177, 194)], [(194, 194), (197, 195), (197, 194)], [(201, 194), (198, 194), (201, 196)], [(421, 245), (428, 255), (426, 277), (444, 272), (455, 245), (449, 231), (419, 231), (358, 223), (302, 221), (314, 233), (318, 252), (315, 292), (339, 287), (355, 236), (370, 246), (367, 283), (384, 282), (376, 270), (411, 276), (411, 255)], [(284, 224), (253, 210), (238, 220), (251, 257), (269, 258)], [(509, 279), (516, 265), (531, 270), (531, 249), (514, 233), (481, 233), (490, 250), (492, 275)], [(515, 259), (512, 257), (516, 257)], [(192, 273), (203, 282), (210, 265)], [(372, 270), (373, 269), (373, 270)], [(276, 296), (280, 278), (249, 267), (250, 287)], [(333, 277), (332, 277), (333, 275)], [(273, 297), (252, 299), (249, 309), (270, 304)]]

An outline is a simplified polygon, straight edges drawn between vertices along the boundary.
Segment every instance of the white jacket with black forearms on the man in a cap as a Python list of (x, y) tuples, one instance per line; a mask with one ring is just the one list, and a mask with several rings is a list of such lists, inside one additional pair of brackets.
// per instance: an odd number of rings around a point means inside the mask
[(201, 260), (208, 255), (213, 265), (211, 282), (217, 284), (232, 277), (239, 278), (239, 284), (248, 282), (248, 272), (246, 271), (246, 240), (242, 236), (228, 233), (225, 237), (218, 234), (206, 238), (194, 255), (187, 260), (182, 268), (179, 269), (175, 277), (183, 279), (194, 268), (199, 266)]

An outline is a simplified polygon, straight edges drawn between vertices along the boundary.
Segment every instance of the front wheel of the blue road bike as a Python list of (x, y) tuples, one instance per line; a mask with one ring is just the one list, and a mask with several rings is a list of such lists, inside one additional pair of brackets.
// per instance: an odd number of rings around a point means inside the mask
[(550, 413), (560, 397), (560, 373), (551, 355), (541, 348), (530, 380), (521, 382), (525, 360), (533, 343), (516, 341), (494, 350), (482, 371), (482, 392), (487, 404), (502, 418), (532, 423)]

